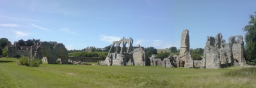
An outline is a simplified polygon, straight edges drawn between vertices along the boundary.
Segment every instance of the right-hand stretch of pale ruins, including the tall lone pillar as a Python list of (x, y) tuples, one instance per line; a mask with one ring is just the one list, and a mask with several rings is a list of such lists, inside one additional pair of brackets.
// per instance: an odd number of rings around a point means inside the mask
[(228, 43), (222, 39), (221, 33), (216, 37), (208, 36), (204, 48), (204, 57), (201, 61), (194, 61), (189, 52), (189, 31), (182, 32), (179, 55), (156, 59), (156, 55), (150, 57), (150, 64), (163, 67), (185, 68), (225, 68), (228, 66), (244, 66), (244, 42), (243, 36), (230, 36)]

